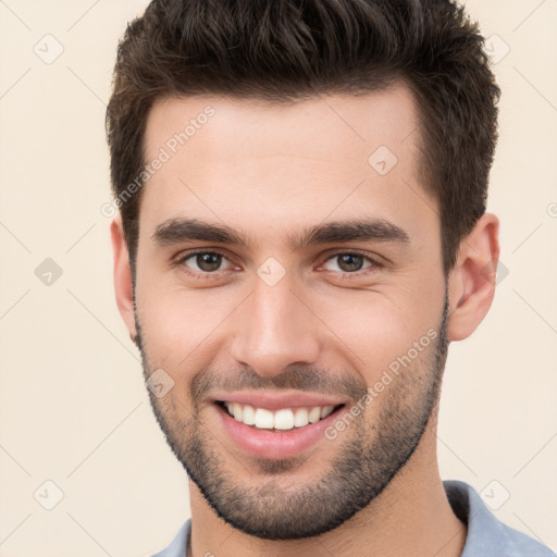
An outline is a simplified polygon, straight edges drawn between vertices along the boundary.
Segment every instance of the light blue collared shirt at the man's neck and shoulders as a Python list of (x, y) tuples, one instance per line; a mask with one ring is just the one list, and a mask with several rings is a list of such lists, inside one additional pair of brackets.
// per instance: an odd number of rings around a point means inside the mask
[[(443, 485), (455, 515), (468, 524), (461, 557), (557, 557), (545, 545), (498, 520), (471, 485), (457, 480), (444, 481)], [(190, 533), (188, 519), (172, 543), (152, 557), (187, 557)]]

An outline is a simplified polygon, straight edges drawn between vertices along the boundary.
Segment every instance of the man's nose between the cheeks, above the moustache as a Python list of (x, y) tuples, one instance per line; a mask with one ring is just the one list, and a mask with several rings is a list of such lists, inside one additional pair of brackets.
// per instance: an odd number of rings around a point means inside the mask
[(320, 320), (283, 277), (269, 286), (258, 277), (237, 313), (232, 356), (261, 376), (292, 364), (311, 364), (320, 354)]

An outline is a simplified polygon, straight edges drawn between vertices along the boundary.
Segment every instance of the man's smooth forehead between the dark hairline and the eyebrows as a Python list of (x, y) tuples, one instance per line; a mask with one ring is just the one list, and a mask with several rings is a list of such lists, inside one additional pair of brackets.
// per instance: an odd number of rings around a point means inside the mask
[(248, 226), (292, 233), (327, 218), (432, 221), (420, 141), (417, 106), (404, 86), (290, 104), (160, 99), (147, 122), (145, 163), (163, 162), (144, 186), (141, 227), (150, 235), (169, 219), (195, 216), (248, 236)]

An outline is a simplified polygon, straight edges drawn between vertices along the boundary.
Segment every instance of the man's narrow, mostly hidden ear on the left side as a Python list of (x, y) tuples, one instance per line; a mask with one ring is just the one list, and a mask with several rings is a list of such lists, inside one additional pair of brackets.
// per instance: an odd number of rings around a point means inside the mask
[(112, 237), (112, 250), (114, 252), (114, 290), (116, 294), (116, 304), (120, 314), (129, 332), (132, 342), (136, 343), (135, 337), (135, 312), (134, 312), (134, 290), (132, 284), (132, 268), (129, 265), (129, 253), (124, 238), (124, 228), (122, 226), (122, 215), (116, 214), (110, 225), (110, 235)]

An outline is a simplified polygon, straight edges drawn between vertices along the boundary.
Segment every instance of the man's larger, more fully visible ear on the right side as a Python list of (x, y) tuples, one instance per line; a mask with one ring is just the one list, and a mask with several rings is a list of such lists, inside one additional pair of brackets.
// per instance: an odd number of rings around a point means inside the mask
[(490, 310), (499, 259), (499, 220), (484, 213), (462, 239), (449, 273), (449, 341), (470, 336)]

